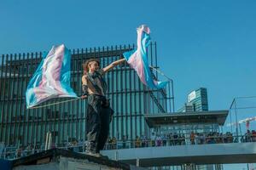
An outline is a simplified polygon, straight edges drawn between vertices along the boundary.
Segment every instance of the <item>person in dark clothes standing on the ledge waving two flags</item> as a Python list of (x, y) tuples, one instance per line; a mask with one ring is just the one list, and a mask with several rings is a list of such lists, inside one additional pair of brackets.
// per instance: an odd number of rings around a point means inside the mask
[(100, 69), (99, 59), (88, 59), (83, 64), (81, 99), (88, 98), (86, 116), (88, 143), (85, 150), (88, 155), (101, 156), (100, 150), (103, 150), (108, 139), (109, 123), (113, 116), (109, 99), (106, 98), (108, 85), (103, 75), (124, 61), (125, 59), (116, 60), (103, 69)]

